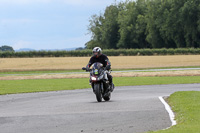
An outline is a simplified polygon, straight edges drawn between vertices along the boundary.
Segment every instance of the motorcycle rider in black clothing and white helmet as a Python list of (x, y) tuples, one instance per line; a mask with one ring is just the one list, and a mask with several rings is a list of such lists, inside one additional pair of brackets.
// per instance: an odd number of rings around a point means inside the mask
[[(90, 58), (90, 61), (89, 63), (87, 64), (86, 66), (86, 70), (90, 70), (90, 66), (95, 63), (95, 62), (99, 62), (99, 63), (102, 63), (103, 64), (103, 67), (106, 68), (106, 70), (110, 70), (111, 69), (111, 63), (108, 59), (108, 57), (104, 54), (102, 54), (102, 50), (100, 47), (95, 47), (93, 50), (93, 56)], [(107, 73), (107, 77), (108, 77), (108, 80), (109, 80), (109, 84), (110, 84), (110, 88), (111, 88), (111, 91), (114, 90), (114, 85), (113, 85), (113, 81), (112, 81), (112, 75), (110, 75), (110, 73)]]

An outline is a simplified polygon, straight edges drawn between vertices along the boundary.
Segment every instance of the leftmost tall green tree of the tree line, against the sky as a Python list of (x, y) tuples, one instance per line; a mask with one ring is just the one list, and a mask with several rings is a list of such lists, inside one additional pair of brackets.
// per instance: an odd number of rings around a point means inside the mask
[(92, 39), (86, 43), (87, 48), (99, 46), (102, 48), (117, 48), (119, 41), (119, 24), (118, 14), (120, 11), (119, 5), (110, 5), (106, 7), (104, 14), (93, 15), (90, 19), (88, 27), (92, 33)]

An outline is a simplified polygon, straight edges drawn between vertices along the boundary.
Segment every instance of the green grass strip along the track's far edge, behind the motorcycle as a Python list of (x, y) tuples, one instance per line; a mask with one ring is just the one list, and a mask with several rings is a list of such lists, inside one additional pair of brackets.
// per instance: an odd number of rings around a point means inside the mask
[[(88, 78), (78, 79), (30, 79), (30, 80), (1, 80), (0, 95), (59, 91), (90, 88)], [(117, 77), (115, 86), (161, 85), (200, 83), (200, 76), (186, 77)]]

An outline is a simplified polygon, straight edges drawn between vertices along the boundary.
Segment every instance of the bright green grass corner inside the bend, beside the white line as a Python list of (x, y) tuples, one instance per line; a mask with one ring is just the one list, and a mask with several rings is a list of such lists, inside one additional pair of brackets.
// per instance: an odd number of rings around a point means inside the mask
[(176, 92), (169, 99), (172, 110), (176, 113), (177, 125), (150, 133), (199, 133), (200, 132), (200, 92)]

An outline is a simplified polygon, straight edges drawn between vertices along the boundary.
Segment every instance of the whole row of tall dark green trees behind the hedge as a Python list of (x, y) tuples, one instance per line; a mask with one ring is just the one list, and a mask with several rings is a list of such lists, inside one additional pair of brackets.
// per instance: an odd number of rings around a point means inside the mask
[(86, 48), (198, 48), (200, 0), (136, 0), (93, 15)]

